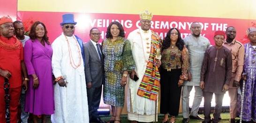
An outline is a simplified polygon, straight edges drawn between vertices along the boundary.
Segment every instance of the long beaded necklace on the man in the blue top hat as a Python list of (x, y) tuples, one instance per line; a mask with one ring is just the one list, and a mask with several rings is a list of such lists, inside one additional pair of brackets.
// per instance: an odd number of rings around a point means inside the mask
[[(72, 36), (74, 39), (75, 39), (75, 37), (74, 36)], [(67, 36), (65, 35), (65, 38), (66, 38), (66, 41), (68, 42), (68, 38), (67, 38)], [(71, 48), (70, 48), (70, 44), (69, 44), (69, 42), (68, 42), (68, 55), (69, 55), (69, 60), (70, 60), (70, 64), (71, 64), (71, 66), (73, 67), (73, 68), (78, 68), (80, 65), (81, 65), (81, 50), (80, 50), (80, 48), (79, 48), (79, 46), (78, 46), (78, 42), (76, 41), (76, 39), (75, 39), (75, 46), (78, 48), (78, 50), (79, 50), (79, 62), (78, 62), (78, 64), (77, 65), (75, 65), (75, 62), (74, 62), (74, 59), (73, 59), (73, 57), (72, 57), (72, 53), (71, 53)], [(72, 60), (72, 61), (71, 61)]]

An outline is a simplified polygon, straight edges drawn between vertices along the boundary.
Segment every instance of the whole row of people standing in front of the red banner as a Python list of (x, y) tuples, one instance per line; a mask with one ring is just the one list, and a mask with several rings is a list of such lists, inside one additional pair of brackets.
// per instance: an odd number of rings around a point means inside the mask
[[(111, 22), (102, 44), (96, 27), (90, 29), (87, 43), (74, 34), (73, 14), (62, 15), (62, 34), (52, 44), (44, 23), (36, 21), (28, 37), (21, 21), (1, 17), (0, 123), (17, 122), (19, 101), (23, 123), (29, 113), (34, 123), (38, 116), (46, 123), (46, 115), (51, 115), (53, 123), (106, 123), (97, 110), (102, 87), (104, 103), (111, 106), (108, 123), (120, 123), (126, 84), (131, 123), (157, 121), (159, 94), (160, 113), (165, 114), (162, 123), (175, 123), (180, 98), (182, 123), (189, 119), (218, 123), (227, 90), (230, 122), (235, 123), (240, 80), (245, 82), (241, 118), (256, 122), (256, 28), (248, 29), (250, 42), (245, 45), (235, 39), (235, 27), (227, 27), (226, 32), (215, 32), (215, 46), (211, 46), (200, 35), (199, 22), (191, 24), (191, 35), (184, 39), (177, 28), (171, 28), (162, 41), (150, 29), (152, 16), (148, 11), (141, 13), (140, 27), (127, 39), (122, 25)], [(216, 106), (211, 119), (213, 93)], [(203, 97), (204, 118), (197, 114)]]

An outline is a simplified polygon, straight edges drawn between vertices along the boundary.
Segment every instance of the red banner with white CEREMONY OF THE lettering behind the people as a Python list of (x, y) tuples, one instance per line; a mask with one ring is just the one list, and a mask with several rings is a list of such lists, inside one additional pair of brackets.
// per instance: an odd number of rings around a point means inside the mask
[[(62, 12), (28, 12), (18, 11), (17, 20), (22, 20), (28, 30), (30, 25), (39, 20), (45, 23), (50, 41), (54, 41), (61, 34), (60, 22), (62, 22)], [(84, 42), (90, 40), (90, 28), (98, 27), (101, 30), (101, 39), (105, 39), (106, 28), (112, 21), (119, 21), (126, 32), (126, 36), (139, 27), (139, 15), (137, 14), (93, 14), (93, 13), (73, 13), (77, 22), (75, 34), (83, 39)], [(205, 18), (205, 17), (183, 17), (183, 16), (163, 16), (154, 15), (151, 29), (162, 38), (171, 27), (176, 27), (184, 38), (190, 34), (191, 23), (197, 21), (202, 25), (202, 35), (207, 37), (211, 44), (213, 42), (214, 31), (225, 31), (228, 26), (233, 26), (237, 30), (236, 39), (242, 43), (247, 42), (245, 31), (248, 27), (254, 27), (256, 20), (243, 19), (224, 19), (224, 18)]]

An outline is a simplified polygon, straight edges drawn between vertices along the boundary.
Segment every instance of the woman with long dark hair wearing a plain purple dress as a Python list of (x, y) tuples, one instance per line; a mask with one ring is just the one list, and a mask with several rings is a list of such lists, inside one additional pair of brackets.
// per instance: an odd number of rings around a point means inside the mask
[(53, 49), (47, 37), (45, 24), (36, 21), (30, 29), (30, 40), (24, 46), (24, 61), (30, 77), (26, 92), (25, 111), (38, 115), (46, 123), (45, 115), (54, 113), (52, 55)]

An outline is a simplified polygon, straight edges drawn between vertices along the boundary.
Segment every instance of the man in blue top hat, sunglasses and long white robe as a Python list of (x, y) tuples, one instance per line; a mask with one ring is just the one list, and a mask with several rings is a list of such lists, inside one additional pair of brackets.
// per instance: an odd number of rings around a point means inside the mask
[(53, 123), (89, 123), (83, 41), (74, 35), (73, 14), (62, 15), (62, 34), (52, 44), (55, 76)]

